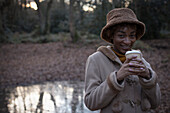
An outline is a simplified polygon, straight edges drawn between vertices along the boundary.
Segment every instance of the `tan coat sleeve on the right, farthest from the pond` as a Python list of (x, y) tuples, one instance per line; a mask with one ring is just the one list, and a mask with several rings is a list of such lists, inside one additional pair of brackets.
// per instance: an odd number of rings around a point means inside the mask
[[(157, 83), (157, 74), (152, 70), (148, 62), (146, 62), (144, 59), (143, 61), (146, 67), (150, 71), (151, 78), (149, 80), (141, 78), (141, 77), (139, 78), (140, 84), (143, 90), (142, 92), (144, 93), (142, 95), (146, 96), (146, 98), (148, 99), (151, 105), (150, 106), (151, 109), (154, 109), (160, 104), (160, 100), (161, 100), (160, 87), (159, 87), (159, 84)], [(143, 108), (143, 109), (147, 109), (147, 108)]]

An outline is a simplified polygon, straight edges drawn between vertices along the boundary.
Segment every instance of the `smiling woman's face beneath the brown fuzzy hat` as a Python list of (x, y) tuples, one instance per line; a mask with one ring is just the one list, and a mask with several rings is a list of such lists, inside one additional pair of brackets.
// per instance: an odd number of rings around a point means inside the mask
[(126, 51), (131, 50), (136, 41), (136, 27), (123, 26), (118, 27), (113, 35), (113, 48), (120, 54), (125, 54)]

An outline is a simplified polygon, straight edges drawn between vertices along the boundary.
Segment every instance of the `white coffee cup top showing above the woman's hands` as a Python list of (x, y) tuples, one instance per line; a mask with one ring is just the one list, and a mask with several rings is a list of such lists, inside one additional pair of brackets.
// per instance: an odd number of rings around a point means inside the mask
[(132, 50), (132, 51), (127, 51), (125, 53), (126, 59), (127, 58), (131, 58), (132, 56), (137, 56), (138, 59), (142, 58), (142, 53), (140, 52), (140, 50)]

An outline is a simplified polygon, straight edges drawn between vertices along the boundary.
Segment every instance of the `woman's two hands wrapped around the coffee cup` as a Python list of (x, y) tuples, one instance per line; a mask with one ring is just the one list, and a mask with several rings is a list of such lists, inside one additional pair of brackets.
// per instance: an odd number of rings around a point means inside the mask
[(141, 59), (136, 56), (126, 59), (120, 70), (117, 72), (117, 80), (122, 81), (129, 75), (138, 75), (142, 78), (149, 79), (150, 73)]

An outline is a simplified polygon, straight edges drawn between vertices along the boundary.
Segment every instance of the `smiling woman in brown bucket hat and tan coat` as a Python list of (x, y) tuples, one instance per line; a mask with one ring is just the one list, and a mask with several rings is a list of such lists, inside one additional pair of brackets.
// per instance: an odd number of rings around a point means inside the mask
[(160, 103), (157, 75), (144, 58), (125, 53), (145, 32), (129, 8), (117, 8), (107, 14), (101, 38), (112, 46), (101, 46), (90, 55), (85, 71), (84, 102), (101, 113), (148, 113)]

